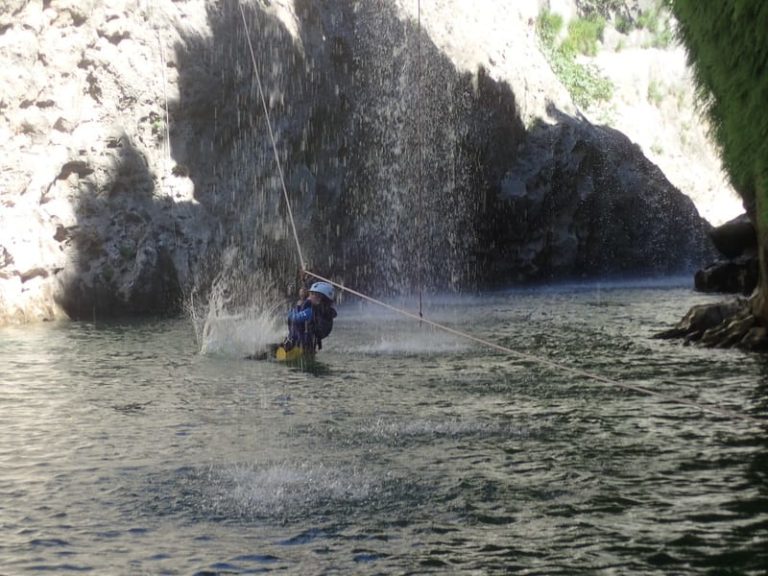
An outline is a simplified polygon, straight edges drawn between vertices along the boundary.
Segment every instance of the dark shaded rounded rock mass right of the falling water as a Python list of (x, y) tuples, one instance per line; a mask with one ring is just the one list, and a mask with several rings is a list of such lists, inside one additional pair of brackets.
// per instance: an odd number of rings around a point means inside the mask
[(626, 136), (584, 121), (531, 130), (495, 197), (500, 281), (669, 274), (712, 255), (693, 203)]

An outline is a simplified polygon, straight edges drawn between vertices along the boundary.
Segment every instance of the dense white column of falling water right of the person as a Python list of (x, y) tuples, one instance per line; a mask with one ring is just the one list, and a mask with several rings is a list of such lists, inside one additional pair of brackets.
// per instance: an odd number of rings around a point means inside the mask
[(458, 122), (470, 80), (382, 3), (360, 9), (355, 25), (354, 50), (366, 65), (355, 71), (360, 145), (347, 184), (356, 259), (369, 266), (363, 283), (401, 294), (456, 288), (471, 275), (476, 241), (468, 127)]

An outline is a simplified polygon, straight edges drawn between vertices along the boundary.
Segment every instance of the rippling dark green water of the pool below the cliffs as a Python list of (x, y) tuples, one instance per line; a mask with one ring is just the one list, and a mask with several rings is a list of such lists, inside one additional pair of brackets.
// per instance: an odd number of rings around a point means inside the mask
[[(768, 359), (649, 338), (712, 300), (602, 285), (427, 314), (768, 424)], [(229, 324), (215, 354), (183, 320), (0, 331), (0, 574), (765, 574), (766, 424), (353, 302), (310, 372), (240, 360), (273, 335)]]

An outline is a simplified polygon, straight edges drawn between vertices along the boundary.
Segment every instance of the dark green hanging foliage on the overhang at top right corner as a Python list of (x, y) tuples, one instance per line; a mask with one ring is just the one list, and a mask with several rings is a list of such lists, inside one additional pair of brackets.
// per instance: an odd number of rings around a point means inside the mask
[(750, 205), (768, 194), (768, 2), (673, 0), (672, 11), (725, 170)]

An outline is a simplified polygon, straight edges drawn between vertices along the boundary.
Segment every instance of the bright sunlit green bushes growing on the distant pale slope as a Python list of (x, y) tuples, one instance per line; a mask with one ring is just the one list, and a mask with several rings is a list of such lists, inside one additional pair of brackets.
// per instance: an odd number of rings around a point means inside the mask
[[(548, 11), (542, 11), (539, 14), (536, 29), (552, 70), (579, 106), (587, 107), (594, 102), (610, 100), (613, 96), (611, 81), (602, 76), (594, 66), (577, 62), (573, 43), (566, 41), (563, 44), (557, 44), (557, 35), (562, 25), (563, 20), (557, 14)], [(597, 29), (593, 28), (590, 34), (594, 35)], [(602, 28), (599, 28), (599, 31), (602, 34)], [(570, 36), (569, 27), (569, 38)], [(593, 36), (595, 46), (597, 37)]]

